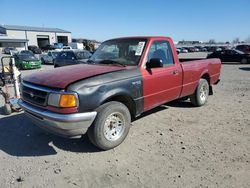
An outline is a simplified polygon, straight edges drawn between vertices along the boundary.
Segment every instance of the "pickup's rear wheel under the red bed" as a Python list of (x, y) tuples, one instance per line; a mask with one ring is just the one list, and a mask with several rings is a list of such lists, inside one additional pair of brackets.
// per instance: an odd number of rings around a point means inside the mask
[(203, 106), (207, 102), (208, 95), (209, 84), (206, 79), (201, 78), (194, 94), (190, 96), (190, 101), (193, 106)]

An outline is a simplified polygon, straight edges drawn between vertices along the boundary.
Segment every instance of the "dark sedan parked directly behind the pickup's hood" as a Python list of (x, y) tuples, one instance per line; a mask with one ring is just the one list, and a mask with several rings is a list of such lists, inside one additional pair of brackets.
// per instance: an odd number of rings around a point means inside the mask
[(87, 50), (63, 50), (54, 60), (54, 67), (83, 63), (86, 62), (91, 55), (92, 54)]

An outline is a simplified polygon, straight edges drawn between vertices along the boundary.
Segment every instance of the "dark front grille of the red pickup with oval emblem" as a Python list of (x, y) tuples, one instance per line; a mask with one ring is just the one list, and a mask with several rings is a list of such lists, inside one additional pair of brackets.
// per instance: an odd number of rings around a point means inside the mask
[(48, 92), (37, 89), (30, 85), (22, 85), (22, 97), (25, 101), (46, 106)]

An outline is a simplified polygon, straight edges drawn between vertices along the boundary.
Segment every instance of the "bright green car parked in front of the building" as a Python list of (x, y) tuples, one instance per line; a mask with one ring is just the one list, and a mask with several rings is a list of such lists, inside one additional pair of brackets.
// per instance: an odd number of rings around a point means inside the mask
[(23, 50), (14, 55), (16, 67), (19, 69), (41, 68), (41, 60), (35, 57), (33, 52)]

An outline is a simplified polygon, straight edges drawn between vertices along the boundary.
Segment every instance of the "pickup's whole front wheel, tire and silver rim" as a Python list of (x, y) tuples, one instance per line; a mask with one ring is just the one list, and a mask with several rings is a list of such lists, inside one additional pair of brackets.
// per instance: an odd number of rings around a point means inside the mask
[(120, 102), (108, 102), (97, 109), (97, 117), (88, 130), (89, 140), (99, 149), (109, 150), (126, 138), (131, 124), (128, 108)]

